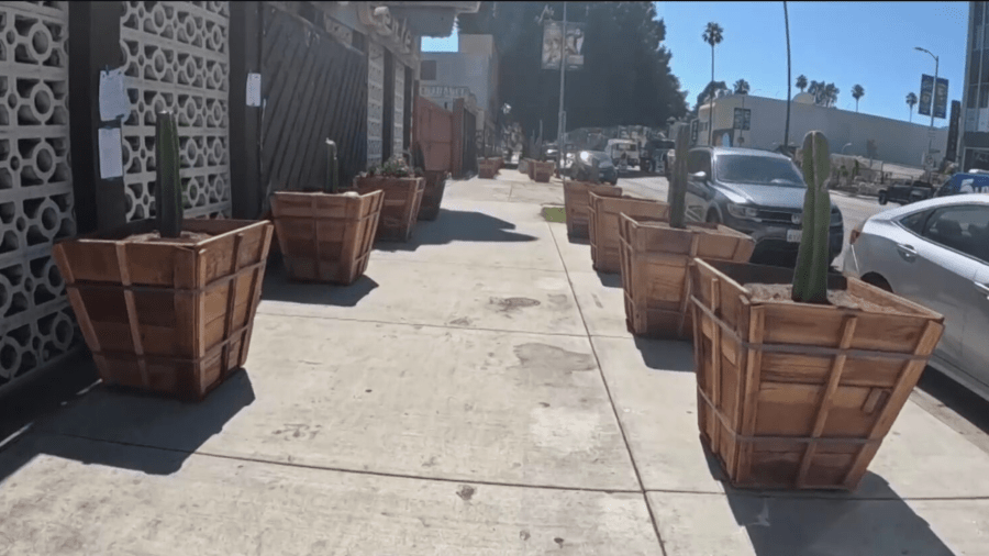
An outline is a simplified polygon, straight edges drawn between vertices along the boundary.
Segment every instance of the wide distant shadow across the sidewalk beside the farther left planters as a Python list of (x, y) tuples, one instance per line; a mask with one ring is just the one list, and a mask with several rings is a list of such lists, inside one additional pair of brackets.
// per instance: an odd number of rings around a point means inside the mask
[(484, 212), (440, 209), (433, 222), (419, 221), (408, 243), (375, 242), (378, 251), (415, 251), (422, 245), (452, 242), (515, 243), (533, 242), (535, 236), (512, 232), (515, 224)]

